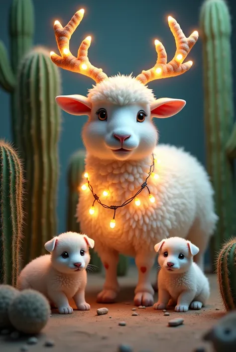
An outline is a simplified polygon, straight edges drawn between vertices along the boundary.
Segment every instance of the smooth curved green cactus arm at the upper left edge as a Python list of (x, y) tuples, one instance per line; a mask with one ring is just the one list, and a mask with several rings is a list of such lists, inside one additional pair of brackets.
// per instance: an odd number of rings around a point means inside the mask
[(0, 40), (0, 85), (7, 92), (13, 92), (15, 86), (15, 77), (9, 64), (6, 48)]

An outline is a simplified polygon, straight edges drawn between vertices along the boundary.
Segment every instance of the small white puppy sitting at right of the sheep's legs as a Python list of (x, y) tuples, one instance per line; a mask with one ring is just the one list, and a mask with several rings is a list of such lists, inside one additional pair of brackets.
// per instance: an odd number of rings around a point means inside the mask
[(165, 309), (176, 305), (176, 312), (201, 309), (210, 296), (208, 279), (193, 256), (199, 248), (180, 237), (171, 237), (157, 243), (154, 247), (158, 253), (161, 267), (158, 273), (158, 302), (154, 309)]

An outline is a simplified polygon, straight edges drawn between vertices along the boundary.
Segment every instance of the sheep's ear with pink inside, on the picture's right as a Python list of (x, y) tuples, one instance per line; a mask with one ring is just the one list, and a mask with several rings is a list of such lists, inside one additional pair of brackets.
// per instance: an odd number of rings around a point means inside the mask
[(151, 117), (166, 118), (177, 114), (185, 106), (182, 99), (160, 98), (151, 104)]

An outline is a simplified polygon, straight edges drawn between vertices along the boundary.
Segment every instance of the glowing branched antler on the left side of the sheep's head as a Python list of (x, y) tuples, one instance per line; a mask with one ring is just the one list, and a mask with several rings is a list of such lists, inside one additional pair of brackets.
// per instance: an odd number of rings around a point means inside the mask
[(91, 44), (91, 36), (87, 36), (87, 38), (82, 41), (77, 57), (70, 52), (70, 38), (83, 19), (83, 16), (84, 9), (82, 8), (74, 14), (65, 27), (63, 27), (58, 20), (54, 22), (56, 42), (61, 56), (55, 54), (53, 51), (50, 52), (50, 55), (52, 61), (57, 66), (69, 71), (84, 74), (94, 79), (96, 83), (99, 83), (108, 78), (108, 76), (103, 72), (102, 68), (93, 66), (89, 61), (88, 49)]

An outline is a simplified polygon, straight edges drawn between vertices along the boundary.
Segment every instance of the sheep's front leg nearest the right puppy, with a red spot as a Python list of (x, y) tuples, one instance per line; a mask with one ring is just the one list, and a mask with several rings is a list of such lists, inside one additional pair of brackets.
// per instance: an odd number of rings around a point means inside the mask
[(154, 290), (152, 288), (149, 274), (155, 261), (155, 254), (138, 252), (135, 264), (138, 269), (138, 284), (134, 291), (134, 304), (136, 306), (152, 306)]

